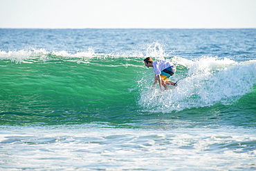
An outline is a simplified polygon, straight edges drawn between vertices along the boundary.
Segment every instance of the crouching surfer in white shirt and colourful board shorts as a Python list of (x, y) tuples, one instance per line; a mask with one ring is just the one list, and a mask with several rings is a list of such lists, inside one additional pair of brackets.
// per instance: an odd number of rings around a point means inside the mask
[(147, 57), (144, 59), (145, 66), (147, 68), (153, 67), (154, 73), (155, 73), (155, 79), (154, 79), (154, 85), (152, 88), (156, 86), (156, 83), (159, 83), (160, 89), (161, 85), (165, 88), (165, 90), (168, 89), (166, 84), (171, 84), (173, 86), (177, 86), (176, 83), (169, 80), (169, 78), (176, 72), (176, 66), (170, 61), (153, 61), (151, 57)]

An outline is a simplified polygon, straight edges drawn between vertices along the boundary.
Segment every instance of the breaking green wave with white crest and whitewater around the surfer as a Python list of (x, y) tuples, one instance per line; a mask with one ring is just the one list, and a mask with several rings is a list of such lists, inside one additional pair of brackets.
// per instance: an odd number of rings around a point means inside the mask
[(157, 86), (151, 89), (154, 73), (144, 66), (144, 58), (44, 53), (3, 59), (1, 124), (120, 124), (134, 123), (145, 114), (254, 106), (255, 61), (166, 57), (178, 68), (172, 81), (182, 79), (177, 88), (161, 92)]

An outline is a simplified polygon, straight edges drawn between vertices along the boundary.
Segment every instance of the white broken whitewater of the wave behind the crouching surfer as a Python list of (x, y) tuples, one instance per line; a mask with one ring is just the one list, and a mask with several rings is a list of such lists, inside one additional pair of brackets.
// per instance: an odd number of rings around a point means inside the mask
[[(185, 59), (185, 63), (188, 60)], [(170, 86), (170, 90), (161, 92), (158, 86), (150, 90), (148, 83), (149, 79), (153, 81), (153, 77), (143, 77), (145, 83), (140, 83), (140, 87), (147, 88), (141, 90), (139, 103), (155, 112), (179, 111), (217, 103), (230, 105), (253, 88), (255, 65), (255, 61), (237, 63), (230, 59), (219, 60), (217, 57), (191, 61), (186, 70), (174, 74), (175, 77), (170, 79), (175, 81), (179, 75), (193, 74), (179, 81), (179, 86)]]

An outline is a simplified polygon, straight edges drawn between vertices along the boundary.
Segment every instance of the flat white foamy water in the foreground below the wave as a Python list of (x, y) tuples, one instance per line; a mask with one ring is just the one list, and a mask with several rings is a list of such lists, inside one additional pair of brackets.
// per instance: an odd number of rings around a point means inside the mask
[(250, 170), (256, 158), (255, 130), (224, 126), (8, 126), (1, 128), (0, 140), (2, 170)]

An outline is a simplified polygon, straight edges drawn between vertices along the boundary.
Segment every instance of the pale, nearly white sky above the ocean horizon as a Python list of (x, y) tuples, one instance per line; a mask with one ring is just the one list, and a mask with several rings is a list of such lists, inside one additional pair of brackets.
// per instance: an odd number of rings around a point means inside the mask
[(0, 0), (0, 28), (256, 28), (256, 0)]

